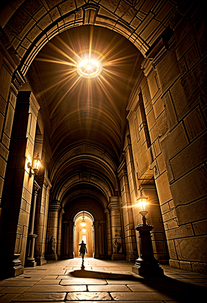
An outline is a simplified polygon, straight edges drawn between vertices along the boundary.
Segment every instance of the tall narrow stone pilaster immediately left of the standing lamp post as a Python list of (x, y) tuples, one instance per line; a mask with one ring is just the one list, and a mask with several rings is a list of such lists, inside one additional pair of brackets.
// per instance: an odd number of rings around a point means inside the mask
[(138, 257), (136, 233), (134, 229), (134, 218), (132, 211), (132, 203), (130, 197), (130, 188), (127, 175), (127, 168), (125, 161), (119, 170), (119, 179), (122, 188), (122, 212), (123, 212), (123, 224), (126, 243), (126, 260), (135, 261)]

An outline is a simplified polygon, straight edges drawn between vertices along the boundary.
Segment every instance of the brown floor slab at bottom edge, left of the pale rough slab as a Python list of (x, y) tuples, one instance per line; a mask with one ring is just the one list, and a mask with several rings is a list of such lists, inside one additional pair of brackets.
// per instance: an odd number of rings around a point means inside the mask
[(15, 302), (34, 302), (36, 301), (63, 301), (66, 296), (66, 292), (24, 292), (16, 297)]

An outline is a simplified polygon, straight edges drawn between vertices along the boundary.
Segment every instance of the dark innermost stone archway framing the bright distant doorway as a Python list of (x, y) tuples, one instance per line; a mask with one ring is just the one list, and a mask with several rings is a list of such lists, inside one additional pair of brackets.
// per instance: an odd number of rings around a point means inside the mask
[[(84, 201), (84, 203), (83, 203)], [(105, 259), (109, 253), (107, 249), (107, 222), (104, 208), (97, 199), (82, 196), (75, 198), (68, 202), (64, 206), (65, 213), (63, 215), (63, 226), (62, 226), (62, 258), (74, 258), (77, 257), (77, 249), (74, 249), (74, 245), (80, 240), (81, 228), (75, 227), (75, 220), (82, 218), (83, 210), (87, 214), (89, 221), (92, 222), (93, 227), (93, 253), (92, 257)], [(93, 221), (92, 221), (93, 220)], [(78, 221), (78, 223), (80, 223)], [(89, 223), (88, 221), (88, 223)], [(74, 235), (78, 233), (75, 238)], [(70, 245), (69, 245), (70, 243)], [(73, 245), (72, 245), (73, 244)], [(77, 243), (76, 243), (77, 244)]]

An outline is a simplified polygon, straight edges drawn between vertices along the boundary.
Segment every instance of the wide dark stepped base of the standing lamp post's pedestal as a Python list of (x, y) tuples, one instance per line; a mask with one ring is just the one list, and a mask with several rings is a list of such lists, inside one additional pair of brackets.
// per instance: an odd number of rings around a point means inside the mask
[(159, 266), (158, 260), (143, 260), (138, 258), (132, 266), (132, 271), (137, 275), (153, 275), (153, 276), (163, 276), (164, 271)]

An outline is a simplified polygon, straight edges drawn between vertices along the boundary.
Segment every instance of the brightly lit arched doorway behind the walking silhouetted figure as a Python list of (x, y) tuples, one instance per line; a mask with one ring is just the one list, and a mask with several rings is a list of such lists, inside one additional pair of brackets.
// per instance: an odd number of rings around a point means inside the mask
[(78, 213), (75, 218), (75, 227), (74, 227), (74, 257), (80, 257), (80, 246), (81, 241), (84, 241), (87, 247), (87, 254), (85, 254), (84, 258), (93, 258), (93, 217), (84, 211), (84, 220), (86, 225), (81, 226), (81, 222), (83, 220), (83, 211)]

